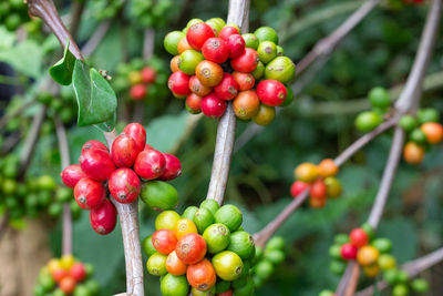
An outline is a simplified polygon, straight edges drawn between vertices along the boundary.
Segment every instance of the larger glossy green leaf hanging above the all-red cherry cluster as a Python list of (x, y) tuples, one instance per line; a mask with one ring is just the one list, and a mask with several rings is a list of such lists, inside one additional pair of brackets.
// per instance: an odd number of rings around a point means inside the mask
[[(72, 75), (76, 101), (79, 104), (80, 126), (113, 123), (117, 98), (110, 83), (96, 71), (81, 60), (75, 61)], [(114, 127), (112, 124), (111, 129)]]

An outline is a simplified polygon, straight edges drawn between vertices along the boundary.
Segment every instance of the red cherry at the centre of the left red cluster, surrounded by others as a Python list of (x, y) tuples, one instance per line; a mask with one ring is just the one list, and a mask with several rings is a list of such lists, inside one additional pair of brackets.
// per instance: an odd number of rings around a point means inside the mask
[(115, 166), (131, 167), (137, 157), (138, 149), (135, 140), (127, 135), (119, 135), (112, 143), (111, 156)]

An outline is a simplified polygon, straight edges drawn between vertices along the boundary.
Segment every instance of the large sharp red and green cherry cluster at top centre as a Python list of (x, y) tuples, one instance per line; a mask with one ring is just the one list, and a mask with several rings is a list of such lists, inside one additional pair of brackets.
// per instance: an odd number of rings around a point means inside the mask
[(233, 101), (239, 120), (267, 125), (275, 108), (292, 100), (285, 83), (293, 79), (296, 67), (282, 55), (278, 34), (269, 27), (240, 35), (237, 25), (219, 18), (193, 19), (183, 31), (169, 32), (164, 45), (175, 55), (168, 88), (186, 99), (190, 113), (220, 118)]

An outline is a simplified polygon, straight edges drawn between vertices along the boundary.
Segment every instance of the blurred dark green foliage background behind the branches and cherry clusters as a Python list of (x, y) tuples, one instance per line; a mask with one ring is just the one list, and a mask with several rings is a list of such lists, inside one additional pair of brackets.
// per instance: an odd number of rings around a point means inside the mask
[[(9, 10), (4, 10), (6, 3), (9, 3)], [(250, 31), (260, 25), (275, 28), (285, 54), (297, 63), (361, 3), (353, 0), (254, 0)], [(55, 4), (65, 23), (72, 19), (73, 10), (84, 6), (76, 33), (80, 47), (85, 45), (103, 23), (109, 24), (103, 40), (87, 60), (113, 76), (111, 83), (117, 92), (120, 108), (117, 132), (134, 116), (143, 118), (147, 142), (157, 150), (174, 152), (182, 161), (183, 175), (172, 183), (179, 193), (178, 212), (199, 204), (209, 182), (217, 122), (207, 118), (194, 122), (195, 115), (184, 110), (184, 102), (169, 94), (166, 80), (172, 57), (163, 49), (163, 38), (169, 31), (182, 30), (192, 18), (226, 19), (228, 1), (90, 0), (84, 3), (55, 1)], [(226, 202), (244, 211), (246, 231), (259, 231), (291, 201), (289, 187), (297, 164), (334, 157), (360, 135), (353, 121), (359, 112), (369, 109), (365, 96), (371, 88), (390, 89), (395, 99), (398, 88), (411, 69), (429, 8), (426, 3), (396, 4), (377, 7), (296, 94), (295, 102), (234, 154)], [(60, 59), (62, 52), (55, 38), (40, 21), (30, 22), (21, 1), (3, 0), (0, 13), (2, 11), (9, 11), (0, 18), (2, 116), (23, 102), (39, 99), (1, 126), (2, 170), (8, 171), (9, 163), (19, 157), (32, 118), (43, 102), (39, 85), (48, 80), (49, 65)], [(143, 60), (146, 30), (154, 32), (154, 55), (150, 60)], [(440, 100), (443, 94), (442, 50), (443, 40), (437, 38), (422, 98), (422, 106), (432, 106), (440, 112), (443, 111)], [(130, 100), (127, 85), (121, 76), (130, 65), (137, 68), (141, 64), (157, 70), (157, 82), (142, 104), (143, 113), (137, 114), (134, 111), (141, 104)], [(91, 139), (104, 141), (97, 129), (76, 126), (73, 98), (71, 86), (63, 88), (60, 96), (52, 98), (25, 180), (50, 175), (61, 185), (60, 152), (51, 114), (65, 116), (62, 119), (73, 162), (84, 142)], [(247, 126), (248, 123), (238, 122), (237, 136)], [(321, 210), (303, 206), (282, 225), (278, 234), (286, 238), (287, 259), (257, 295), (308, 296), (324, 288), (334, 289), (340, 277), (329, 272), (328, 248), (337, 233), (348, 233), (368, 218), (391, 139), (390, 133), (383, 134), (342, 167), (339, 180), (344, 193), (339, 200), (329, 202)], [(441, 145), (434, 146), (426, 152), (421, 165), (401, 163), (396, 173), (377, 235), (392, 239), (393, 254), (401, 263), (442, 246), (442, 151)], [(2, 175), (4, 187), (8, 173)], [(6, 263), (9, 257), (8, 262), (13, 258), (16, 264), (3, 265), (0, 285), (16, 285), (18, 294), (14, 295), (27, 295), (24, 287), (32, 288), (35, 278), (22, 271), (32, 266), (38, 271), (50, 257), (61, 254), (60, 211), (53, 206), (52, 212), (29, 215), (28, 207), (13, 204), (11, 198), (8, 202), (7, 197), (4, 192), (0, 196), (1, 211), (9, 210), (12, 217), (2, 227), (6, 229), (2, 229), (0, 242), (0, 262)], [(155, 213), (142, 206), (142, 239), (153, 233), (154, 218)], [(74, 255), (95, 267), (94, 278), (102, 287), (100, 295), (123, 292), (125, 269), (120, 229), (107, 236), (96, 235), (83, 211), (74, 222), (73, 235)], [(27, 246), (34, 247), (32, 255), (27, 254)], [(442, 273), (443, 265), (440, 264), (422, 274), (431, 283), (429, 295), (443, 295)], [(4, 282), (6, 278), (9, 280)], [(159, 295), (156, 277), (146, 274), (145, 283), (146, 295)], [(360, 280), (361, 287), (369, 284), (368, 279)], [(3, 295), (1, 287), (0, 295)]]

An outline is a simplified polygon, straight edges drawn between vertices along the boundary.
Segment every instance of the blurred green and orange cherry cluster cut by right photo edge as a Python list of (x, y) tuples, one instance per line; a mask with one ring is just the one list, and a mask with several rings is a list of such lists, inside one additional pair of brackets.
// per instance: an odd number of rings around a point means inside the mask
[(403, 115), (399, 125), (406, 132), (409, 141), (403, 149), (403, 159), (410, 164), (420, 164), (429, 145), (435, 145), (443, 140), (443, 126), (439, 123), (439, 112), (435, 109), (421, 109), (416, 115)]

